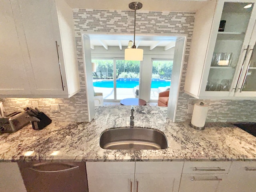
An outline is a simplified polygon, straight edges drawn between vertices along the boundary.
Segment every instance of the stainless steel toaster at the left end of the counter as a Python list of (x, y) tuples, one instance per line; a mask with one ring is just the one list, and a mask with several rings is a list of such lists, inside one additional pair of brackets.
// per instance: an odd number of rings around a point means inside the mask
[(29, 124), (26, 112), (13, 112), (0, 118), (0, 133), (14, 133)]

